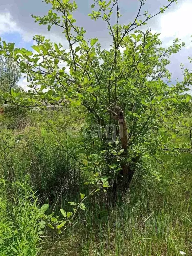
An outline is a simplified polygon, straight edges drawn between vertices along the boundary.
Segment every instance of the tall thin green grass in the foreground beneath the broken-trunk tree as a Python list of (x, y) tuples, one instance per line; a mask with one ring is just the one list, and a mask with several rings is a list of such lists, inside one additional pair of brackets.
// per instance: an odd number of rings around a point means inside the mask
[[(175, 256), (180, 255), (179, 251), (192, 255), (192, 177), (188, 157), (182, 157), (183, 169), (174, 170), (175, 176), (184, 177), (185, 184), (161, 188), (155, 183), (139, 187), (133, 183), (129, 194), (115, 207), (101, 199), (87, 202), (83, 221), (63, 238), (47, 239), (45, 255)], [(174, 159), (167, 161), (174, 163)]]

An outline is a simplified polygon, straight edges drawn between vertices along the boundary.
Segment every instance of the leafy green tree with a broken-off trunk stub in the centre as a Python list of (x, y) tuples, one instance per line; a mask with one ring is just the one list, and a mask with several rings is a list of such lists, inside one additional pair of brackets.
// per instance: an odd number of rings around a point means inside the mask
[[(52, 4), (48, 15), (33, 16), (35, 22), (48, 25), (49, 31), (52, 26), (59, 26), (69, 50), (43, 36), (34, 37), (35, 53), (14, 49), (13, 44), (5, 42), (1, 46), (1, 54), (19, 63), (31, 87), (27, 98), (14, 90), (10, 96), (4, 96), (25, 106), (42, 102), (83, 106), (88, 127), (78, 148), (87, 155), (86, 168), (94, 171), (96, 177), (99, 174), (115, 177), (114, 189), (119, 184), (129, 185), (135, 171), (149, 172), (146, 159), (155, 157), (158, 151), (175, 152), (191, 147), (174, 146), (182, 133), (180, 128), (185, 125), (182, 118), (191, 100), (185, 92), (191, 77), (169, 86), (171, 74), (166, 68), (170, 55), (184, 44), (175, 39), (172, 46), (163, 48), (159, 34), (152, 34), (150, 29), (138, 30), (176, 1), (169, 0), (167, 6), (150, 15), (142, 13), (146, 1), (140, 0), (138, 14), (128, 25), (120, 24), (119, 1), (94, 0), (91, 6), (91, 19), (101, 18), (108, 24), (112, 36), (110, 50), (101, 50), (97, 38), (85, 39), (86, 31), (75, 25), (73, 17), (77, 4), (69, 0), (45, 0)], [(111, 24), (113, 15), (116, 15), (115, 25)], [(95, 136), (91, 124), (101, 127), (99, 136)], [(102, 133), (104, 128), (108, 138)], [(159, 179), (158, 173), (153, 175)]]

